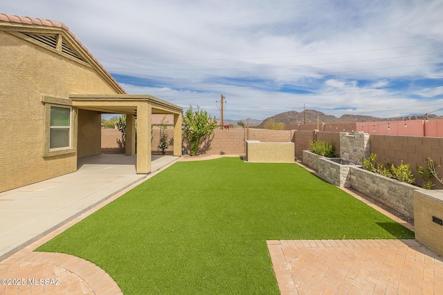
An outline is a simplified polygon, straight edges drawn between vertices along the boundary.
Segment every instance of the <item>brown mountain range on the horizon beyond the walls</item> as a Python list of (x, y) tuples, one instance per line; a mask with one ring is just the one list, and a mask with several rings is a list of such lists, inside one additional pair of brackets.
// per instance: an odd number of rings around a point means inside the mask
[[(435, 119), (437, 115), (427, 115), (428, 119)], [(303, 112), (289, 111), (273, 115), (264, 119), (264, 121), (257, 127), (263, 127), (269, 120), (275, 122), (281, 122), (284, 125), (297, 125), (297, 124), (317, 124), (318, 122), (325, 123), (351, 123), (351, 122), (378, 122), (378, 121), (401, 121), (401, 120), (425, 120), (426, 115), (407, 115), (401, 117), (379, 118), (367, 115), (342, 115), (341, 117), (335, 117), (334, 115), (326, 115), (325, 113), (316, 110), (305, 110)]]

